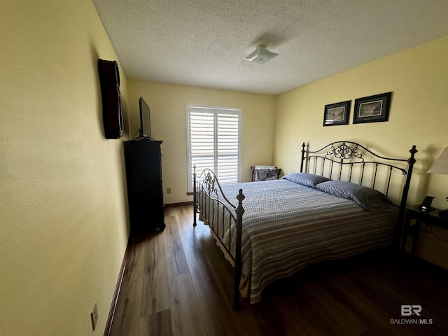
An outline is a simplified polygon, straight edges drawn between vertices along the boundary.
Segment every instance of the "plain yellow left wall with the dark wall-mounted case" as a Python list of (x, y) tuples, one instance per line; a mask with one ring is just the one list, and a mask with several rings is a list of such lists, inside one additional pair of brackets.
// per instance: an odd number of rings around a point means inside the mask
[(0, 34), (0, 334), (103, 335), (129, 231), (97, 74), (116, 53), (90, 0), (2, 0)]

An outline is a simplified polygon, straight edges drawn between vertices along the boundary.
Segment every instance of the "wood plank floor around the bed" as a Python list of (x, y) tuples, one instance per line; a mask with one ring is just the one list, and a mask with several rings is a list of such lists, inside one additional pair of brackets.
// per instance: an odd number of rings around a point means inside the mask
[(207, 226), (192, 207), (165, 216), (164, 232), (132, 238), (111, 336), (448, 335), (447, 273), (388, 253), (307, 267), (233, 311), (233, 269)]

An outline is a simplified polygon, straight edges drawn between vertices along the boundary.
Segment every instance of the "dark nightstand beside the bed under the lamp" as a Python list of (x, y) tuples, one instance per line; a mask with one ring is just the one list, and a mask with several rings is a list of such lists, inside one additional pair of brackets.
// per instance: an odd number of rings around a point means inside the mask
[(415, 220), (414, 226), (414, 239), (412, 241), (412, 250), (411, 254), (415, 254), (415, 249), (417, 246), (417, 242), (419, 241), (419, 233), (421, 222), (426, 223), (427, 225), (440, 226), (441, 228), (448, 229), (448, 217), (439, 216), (439, 211), (441, 209), (434, 209), (433, 211), (424, 212), (419, 209), (419, 205), (414, 205), (414, 207), (407, 207), (405, 213), (405, 230), (403, 232), (403, 238), (401, 242), (401, 249), (405, 251), (407, 236), (409, 235), (409, 226), (412, 220)]

